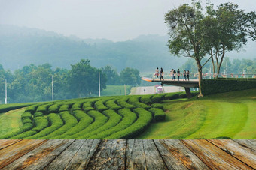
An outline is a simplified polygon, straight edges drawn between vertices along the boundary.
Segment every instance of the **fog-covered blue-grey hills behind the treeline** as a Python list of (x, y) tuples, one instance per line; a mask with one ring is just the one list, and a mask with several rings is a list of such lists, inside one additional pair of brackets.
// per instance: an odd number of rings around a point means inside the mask
[[(168, 36), (141, 35), (132, 40), (112, 42), (106, 39), (80, 39), (65, 37), (52, 31), (0, 25), (0, 64), (5, 69), (16, 70), (29, 64), (49, 63), (55, 67), (70, 68), (82, 58), (90, 59), (93, 67), (110, 65), (117, 71), (133, 67), (141, 72), (154, 72), (178, 68), (187, 58), (169, 54)], [(248, 44), (246, 52), (232, 52), (232, 58), (256, 58), (255, 42)], [(232, 55), (232, 56), (231, 56)]]

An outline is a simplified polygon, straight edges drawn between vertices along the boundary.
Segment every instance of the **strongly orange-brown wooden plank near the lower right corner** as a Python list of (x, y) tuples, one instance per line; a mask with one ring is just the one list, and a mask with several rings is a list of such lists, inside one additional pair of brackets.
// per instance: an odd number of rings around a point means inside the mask
[(204, 139), (181, 140), (211, 169), (251, 169), (245, 163)]

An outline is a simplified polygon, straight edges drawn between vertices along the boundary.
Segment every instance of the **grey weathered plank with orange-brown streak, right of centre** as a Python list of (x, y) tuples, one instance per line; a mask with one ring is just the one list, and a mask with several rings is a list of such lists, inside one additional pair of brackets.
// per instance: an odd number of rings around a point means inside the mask
[(169, 169), (209, 169), (180, 140), (154, 140)]

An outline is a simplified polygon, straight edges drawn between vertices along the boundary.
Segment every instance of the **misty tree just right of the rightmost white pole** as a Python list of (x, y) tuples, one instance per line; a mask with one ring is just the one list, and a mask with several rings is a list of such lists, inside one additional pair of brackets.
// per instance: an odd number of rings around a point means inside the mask
[(107, 85), (120, 85), (120, 76), (117, 70), (112, 69), (109, 65), (102, 67), (101, 70), (107, 76)]

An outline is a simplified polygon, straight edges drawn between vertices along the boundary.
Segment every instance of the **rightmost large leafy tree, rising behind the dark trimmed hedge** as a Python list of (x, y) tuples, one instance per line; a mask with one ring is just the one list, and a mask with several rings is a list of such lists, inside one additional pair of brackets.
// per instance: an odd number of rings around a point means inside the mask
[[(225, 3), (218, 5), (217, 10), (213, 5), (207, 6), (207, 16), (204, 19), (206, 34), (203, 40), (204, 48), (212, 57), (213, 71), (215, 64), (217, 76), (227, 52), (241, 49), (247, 42), (249, 34), (250, 16), (244, 10), (239, 10), (237, 4)], [(215, 56), (215, 64), (214, 58)]]

